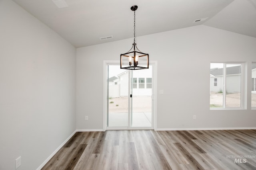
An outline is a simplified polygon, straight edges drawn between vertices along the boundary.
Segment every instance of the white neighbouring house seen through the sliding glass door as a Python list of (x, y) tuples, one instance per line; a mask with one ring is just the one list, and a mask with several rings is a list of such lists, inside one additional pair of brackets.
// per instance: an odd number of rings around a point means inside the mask
[[(122, 72), (116, 76), (109, 78), (109, 96), (117, 98), (128, 96), (128, 73), (129, 70)], [(152, 70), (144, 69), (143, 71), (133, 71), (131, 80), (133, 96), (151, 96), (152, 95)]]

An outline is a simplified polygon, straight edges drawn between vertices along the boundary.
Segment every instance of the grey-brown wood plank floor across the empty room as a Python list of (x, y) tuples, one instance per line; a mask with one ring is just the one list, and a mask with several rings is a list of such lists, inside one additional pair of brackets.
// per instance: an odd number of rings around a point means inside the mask
[(256, 170), (256, 130), (77, 132), (42, 170)]

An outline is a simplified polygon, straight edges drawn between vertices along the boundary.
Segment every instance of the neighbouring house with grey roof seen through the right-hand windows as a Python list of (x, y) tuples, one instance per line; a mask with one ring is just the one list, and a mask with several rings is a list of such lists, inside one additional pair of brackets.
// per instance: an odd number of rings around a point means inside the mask
[[(223, 91), (223, 68), (210, 70), (210, 91)], [(241, 66), (226, 68), (226, 91), (228, 93), (241, 92)], [(256, 91), (256, 66), (252, 66), (252, 91)]]

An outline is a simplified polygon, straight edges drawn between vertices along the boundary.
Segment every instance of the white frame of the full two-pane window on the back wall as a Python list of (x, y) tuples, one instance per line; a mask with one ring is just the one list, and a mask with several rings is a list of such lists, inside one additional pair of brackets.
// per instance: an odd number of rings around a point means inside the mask
[[(245, 62), (210, 62), (210, 64), (212, 63), (220, 63), (223, 64), (223, 79), (224, 79), (224, 83), (223, 83), (223, 98), (222, 98), (222, 107), (210, 107), (210, 110), (221, 110), (221, 109), (247, 109), (246, 108), (246, 86), (247, 86), (247, 82), (245, 80), (247, 73), (246, 73), (246, 63)], [(240, 94), (240, 107), (227, 107), (226, 106), (226, 65), (227, 64), (241, 64), (241, 94)], [(211, 69), (211, 68), (210, 68)], [(222, 84), (221, 84), (222, 86)], [(211, 87), (211, 85), (210, 85)], [(210, 99), (210, 96), (209, 96)]]

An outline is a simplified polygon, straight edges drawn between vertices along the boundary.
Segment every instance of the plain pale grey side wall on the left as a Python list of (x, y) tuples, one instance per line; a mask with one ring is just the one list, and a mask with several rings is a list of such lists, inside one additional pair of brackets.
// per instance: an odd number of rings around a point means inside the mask
[(35, 170), (76, 129), (76, 49), (0, 0), (0, 170)]

